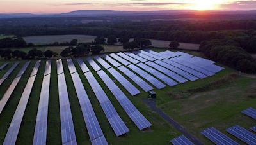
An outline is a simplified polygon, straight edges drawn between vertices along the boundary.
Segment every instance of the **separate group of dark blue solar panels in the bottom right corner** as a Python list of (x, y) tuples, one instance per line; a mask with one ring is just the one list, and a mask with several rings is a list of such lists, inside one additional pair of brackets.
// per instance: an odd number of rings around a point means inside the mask
[[(250, 116), (251, 118), (256, 120), (256, 109), (253, 109), (252, 107), (243, 110), (241, 113), (246, 114), (247, 116)], [(250, 128), (250, 130), (256, 133), (256, 126)], [(237, 139), (240, 139), (246, 144), (256, 144), (256, 134), (253, 134), (253, 132), (250, 132), (239, 125), (234, 125), (233, 127), (228, 128), (226, 131), (229, 134), (234, 135), (234, 137), (237, 137)], [(210, 127), (203, 130), (201, 134), (207, 137), (207, 139), (209, 139), (210, 141), (214, 142), (214, 144), (239, 144), (230, 137), (228, 137), (227, 135), (221, 133), (214, 127)], [(193, 144), (193, 142), (189, 141), (189, 139), (186, 138), (184, 135), (176, 137), (175, 139), (172, 139), (170, 142), (172, 142), (172, 144), (175, 145)]]

